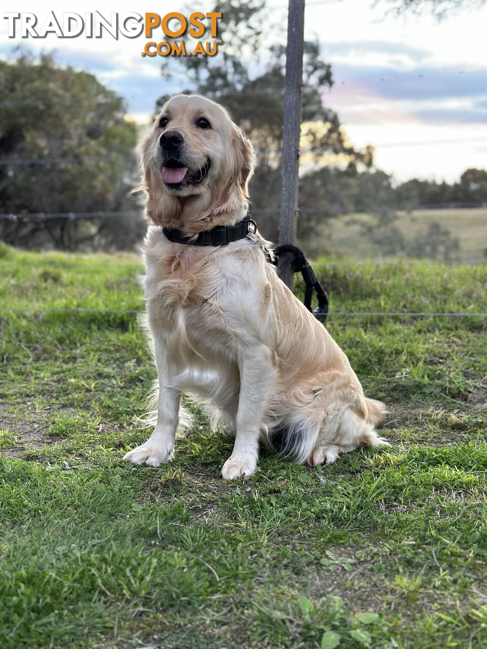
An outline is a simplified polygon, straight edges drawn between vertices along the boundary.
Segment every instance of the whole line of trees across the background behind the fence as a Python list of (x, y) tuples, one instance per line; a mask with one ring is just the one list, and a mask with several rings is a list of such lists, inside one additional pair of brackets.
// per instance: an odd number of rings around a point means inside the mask
[[(265, 0), (222, 0), (218, 11), (224, 17), (218, 39), (225, 44), (219, 55), (175, 58), (170, 67), (164, 62), (162, 73), (172, 87), (184, 78), (181, 92), (223, 104), (249, 136), (257, 158), (251, 206), (265, 210), (259, 228), (277, 240), (286, 47), (275, 38), (285, 39), (285, 31), (272, 24)], [(142, 215), (142, 197), (131, 195), (139, 176), (138, 132), (123, 99), (94, 75), (23, 50), (0, 61), (0, 84), (0, 212), (128, 213), (116, 219), (0, 219), (0, 239), (36, 248), (133, 249), (145, 224), (133, 214)], [(319, 43), (306, 41), (298, 238), (309, 254), (319, 252), (327, 222), (340, 214), (375, 214), (375, 225), (364, 227), (364, 236), (374, 238), (384, 228), (392, 231), (399, 208), (487, 202), (487, 172), (479, 169), (468, 169), (455, 184), (414, 179), (396, 186), (375, 168), (373, 147), (356, 149), (324, 103), (323, 90), (332, 84)], [(155, 112), (167, 98), (160, 97)], [(401, 243), (386, 249), (405, 252)]]

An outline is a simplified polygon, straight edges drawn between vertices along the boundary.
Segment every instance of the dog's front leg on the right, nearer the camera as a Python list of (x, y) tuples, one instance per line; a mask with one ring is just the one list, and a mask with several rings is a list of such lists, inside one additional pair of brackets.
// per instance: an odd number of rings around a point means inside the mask
[(246, 349), (239, 367), (240, 397), (236, 437), (233, 452), (221, 470), (225, 480), (234, 480), (244, 473), (250, 476), (255, 472), (264, 413), (275, 383), (276, 371), (271, 363), (269, 349), (264, 345)]

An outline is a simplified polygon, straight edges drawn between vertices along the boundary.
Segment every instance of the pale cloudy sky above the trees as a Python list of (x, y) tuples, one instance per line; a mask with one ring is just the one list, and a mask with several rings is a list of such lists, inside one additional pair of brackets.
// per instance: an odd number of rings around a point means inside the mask
[[(42, 3), (46, 6), (44, 3)], [(282, 40), (286, 30), (286, 0), (268, 0)], [(36, 3), (19, 0), (16, 11), (32, 12), (42, 26), (49, 10), (61, 18), (99, 11), (154, 11), (165, 14), (190, 6), (211, 10), (203, 0), (159, 2), (156, 6), (119, 0), (97, 3), (79, 0), (66, 5), (51, 0), (39, 10)], [(393, 175), (408, 178), (458, 180), (468, 167), (487, 167), (487, 4), (457, 10), (442, 21), (430, 14), (387, 15), (386, 0), (310, 0), (305, 11), (305, 35), (318, 38), (325, 60), (332, 65), (334, 85), (323, 94), (325, 104), (338, 112), (343, 128), (356, 147), (372, 144), (375, 164)], [(183, 11), (183, 13), (187, 13)], [(142, 57), (144, 35), (138, 38), (110, 34), (101, 39), (8, 38), (7, 21), (0, 24), (0, 55), (12, 45), (34, 52), (55, 50), (62, 64), (94, 73), (108, 88), (125, 97), (129, 113), (147, 123), (160, 95), (184, 88), (184, 77), (168, 82), (161, 75), (168, 58)], [(258, 66), (258, 62), (256, 62)]]

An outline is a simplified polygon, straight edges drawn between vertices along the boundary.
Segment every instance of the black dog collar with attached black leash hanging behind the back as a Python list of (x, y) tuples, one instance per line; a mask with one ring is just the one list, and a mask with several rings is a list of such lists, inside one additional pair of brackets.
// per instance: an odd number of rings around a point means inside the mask
[[(252, 241), (258, 244), (262, 252), (266, 255), (266, 258), (269, 263), (277, 265), (277, 258), (281, 254), (290, 254), (293, 256), (291, 260), (292, 268), (295, 273), (301, 272), (303, 275), (303, 280), (305, 280), (305, 307), (310, 311), (320, 323), (325, 324), (328, 314), (328, 296), (325, 293), (325, 290), (319, 284), (316, 275), (310, 264), (306, 261), (305, 255), (299, 248), (294, 245), (280, 245), (276, 246), (273, 249), (275, 252), (276, 259), (273, 260), (270, 252), (266, 247), (264, 247), (260, 240), (255, 236), (257, 231), (257, 225), (250, 217), (249, 212), (245, 215), (245, 218), (239, 223), (231, 226), (218, 225), (212, 230), (206, 230), (206, 232), (199, 232), (197, 236), (188, 237), (186, 234), (183, 234), (181, 230), (177, 228), (162, 228), (164, 236), (169, 239), (169, 241), (174, 241), (175, 243), (185, 243), (186, 245), (212, 245), (220, 246), (227, 245), (232, 241), (238, 241), (239, 239), (245, 239), (249, 236)], [(311, 309), (311, 299), (313, 297), (313, 291), (316, 292), (316, 297), (318, 299), (318, 307), (312, 311)]]

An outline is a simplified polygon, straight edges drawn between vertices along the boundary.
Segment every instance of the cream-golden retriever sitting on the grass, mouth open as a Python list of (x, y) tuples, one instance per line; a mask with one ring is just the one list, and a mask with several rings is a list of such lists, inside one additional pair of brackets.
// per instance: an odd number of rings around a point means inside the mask
[(364, 398), (345, 354), (281, 282), (256, 233), (228, 245), (187, 245), (186, 236), (233, 226), (247, 214), (253, 147), (218, 104), (177, 95), (142, 150), (149, 229), (145, 302), (158, 371), (157, 420), (125, 455), (158, 466), (173, 457), (181, 397), (206, 407), (235, 437), (226, 480), (255, 472), (259, 444), (316, 466), (375, 432), (381, 402)]

